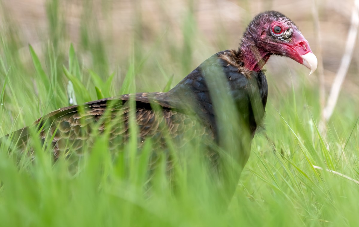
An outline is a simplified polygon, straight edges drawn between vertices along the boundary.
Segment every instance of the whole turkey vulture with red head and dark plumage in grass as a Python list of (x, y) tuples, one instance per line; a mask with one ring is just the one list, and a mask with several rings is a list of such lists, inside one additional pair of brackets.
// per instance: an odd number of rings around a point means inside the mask
[[(248, 25), (238, 49), (211, 56), (166, 93), (127, 94), (64, 107), (30, 127), (38, 131), (43, 142), (50, 140), (46, 144), (52, 147), (54, 159), (83, 150), (93, 142), (90, 135), (94, 131), (97, 135), (107, 131), (109, 149), (119, 149), (129, 138), (131, 118), (138, 126), (139, 146), (148, 138), (161, 148), (166, 147), (168, 138), (180, 146), (186, 140), (183, 134), (221, 145), (220, 109), (215, 104), (220, 105), (218, 97), (227, 92), (241, 128), (249, 135), (248, 146), (243, 146), (246, 151), (232, 151), (239, 154), (236, 159), (244, 166), (251, 139), (265, 114), (268, 88), (262, 67), (271, 55), (290, 57), (308, 67), (310, 73), (317, 67), (316, 57), (294, 22), (279, 12), (266, 11)], [(222, 90), (217, 86), (221, 82), (225, 85)], [(135, 107), (132, 115), (130, 100)], [(26, 145), (31, 138), (29, 129), (20, 129), (3, 142)], [(221, 158), (215, 153), (208, 156)]]

